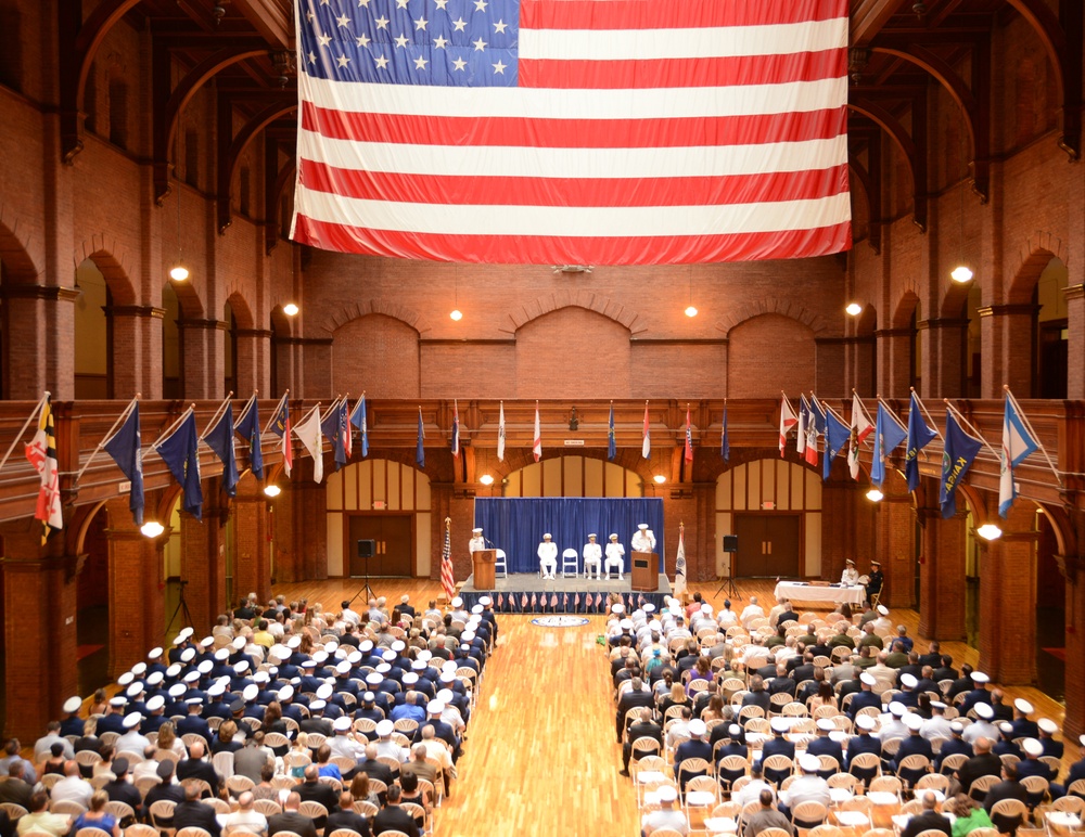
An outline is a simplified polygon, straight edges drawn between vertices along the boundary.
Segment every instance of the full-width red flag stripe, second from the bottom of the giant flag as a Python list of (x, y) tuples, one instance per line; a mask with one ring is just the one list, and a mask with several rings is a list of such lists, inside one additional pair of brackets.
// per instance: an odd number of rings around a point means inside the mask
[(562, 179), (358, 171), (301, 163), (315, 192), (367, 201), (452, 206), (722, 206), (805, 201), (847, 192), (847, 165), (718, 178)]

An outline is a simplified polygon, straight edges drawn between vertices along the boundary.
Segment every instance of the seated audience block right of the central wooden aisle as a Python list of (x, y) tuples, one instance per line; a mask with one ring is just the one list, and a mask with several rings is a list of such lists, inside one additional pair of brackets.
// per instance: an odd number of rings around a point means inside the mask
[(1034, 719), (1024, 699), (1005, 704), (937, 642), (920, 653), (889, 613), (842, 605), (818, 618), (781, 601), (766, 614), (756, 597), (741, 614), (730, 602), (715, 613), (699, 594), (661, 613), (614, 604), (615, 734), (644, 834), (687, 834), (705, 817), (743, 837), (824, 825), (863, 834), (878, 803), (911, 815), (915, 827), (895, 823), (903, 837), (1016, 833), (1051, 806), (1080, 814), (1085, 736), (1060, 783), (1054, 721)]

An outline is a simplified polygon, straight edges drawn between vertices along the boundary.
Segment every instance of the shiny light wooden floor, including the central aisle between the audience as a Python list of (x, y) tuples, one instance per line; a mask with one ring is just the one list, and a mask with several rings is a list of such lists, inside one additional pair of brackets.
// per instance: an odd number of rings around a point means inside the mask
[[(373, 579), (378, 595), (390, 604), (407, 594), (423, 609), (441, 592), (429, 579)], [(334, 609), (358, 592), (354, 579), (278, 584), (276, 594), (288, 601), (307, 598)], [(717, 609), (724, 596), (716, 584), (693, 587)], [(775, 605), (775, 582), (737, 584), (740, 610), (751, 595)], [(919, 615), (894, 610), (895, 622), (916, 636)], [(545, 629), (528, 616), (498, 617), (498, 647), (486, 666), (478, 708), (460, 760), (460, 783), (452, 798), (437, 811), (436, 834), (452, 837), (472, 833), (509, 837), (634, 837), (640, 833), (636, 799), (629, 780), (618, 776), (621, 747), (614, 737), (614, 705), (604, 655), (596, 644), (603, 617), (588, 617), (580, 628)], [(921, 649), (927, 643), (917, 642)], [(975, 665), (978, 652), (963, 643), (943, 643), (955, 665)], [(1062, 705), (1035, 688), (1010, 687), (1010, 699), (1026, 697), (1039, 716), (1061, 725)], [(1068, 745), (1065, 764), (1076, 759)]]

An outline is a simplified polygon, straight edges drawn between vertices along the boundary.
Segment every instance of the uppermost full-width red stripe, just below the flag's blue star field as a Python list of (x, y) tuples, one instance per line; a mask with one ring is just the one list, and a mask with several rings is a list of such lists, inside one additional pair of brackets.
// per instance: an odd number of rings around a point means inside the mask
[(302, 103), (302, 127), (333, 140), (409, 145), (562, 149), (762, 145), (830, 140), (847, 126), (847, 108), (796, 114), (679, 119), (468, 119), (341, 112)]

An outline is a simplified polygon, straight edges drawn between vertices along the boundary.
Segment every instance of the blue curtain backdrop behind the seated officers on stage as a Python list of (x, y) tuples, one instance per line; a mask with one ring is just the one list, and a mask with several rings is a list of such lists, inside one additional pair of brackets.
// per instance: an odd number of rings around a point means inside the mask
[(637, 525), (646, 523), (655, 533), (655, 551), (663, 566), (663, 500), (660, 498), (480, 498), (475, 500), (475, 526), (495, 549), (505, 550), (509, 572), (537, 572), (536, 551), (544, 532), (553, 536), (558, 544), (558, 566), (561, 553), (576, 550), (577, 556), (588, 535), (599, 536), (605, 544), (611, 532), (617, 533), (625, 546), (625, 571), (629, 571), (629, 539)]

